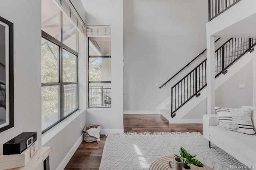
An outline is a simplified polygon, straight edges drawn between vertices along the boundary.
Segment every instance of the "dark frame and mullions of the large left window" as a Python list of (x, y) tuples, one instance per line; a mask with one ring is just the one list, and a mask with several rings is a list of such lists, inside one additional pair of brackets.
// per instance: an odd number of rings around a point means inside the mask
[[(55, 45), (57, 45), (59, 47), (59, 51), (58, 51), (58, 82), (54, 82), (54, 83), (41, 83), (41, 87), (45, 87), (45, 86), (54, 86), (54, 85), (58, 85), (59, 87), (59, 91), (58, 91), (58, 98), (59, 98), (59, 117), (60, 119), (58, 121), (56, 121), (55, 123), (53, 123), (52, 125), (50, 125), (49, 127), (45, 128), (44, 130), (42, 130), (42, 134), (46, 131), (48, 131), (50, 128), (54, 127), (55, 125), (57, 125), (58, 123), (60, 123), (61, 121), (63, 121), (64, 119), (66, 119), (67, 117), (69, 117), (70, 115), (72, 115), (74, 112), (78, 111), (79, 109), (79, 86), (78, 86), (78, 52), (74, 51), (72, 48), (68, 47), (67, 45), (65, 45), (63, 43), (63, 38), (62, 38), (62, 18), (63, 18), (63, 12), (60, 10), (60, 41), (57, 40), (56, 38), (50, 36), (48, 33), (42, 31), (42, 38), (44, 38), (45, 40), (48, 40), (51, 43), (54, 43)], [(78, 51), (78, 30), (76, 29), (76, 49)], [(63, 82), (63, 59), (62, 59), (62, 55), (63, 55), (63, 49), (68, 51), (69, 53), (72, 53), (73, 55), (76, 56), (76, 81), (74, 82)], [(77, 109), (75, 109), (74, 111), (72, 111), (71, 113), (69, 113), (68, 115), (66, 115), (64, 117), (64, 85), (76, 85), (77, 89), (76, 89), (76, 93), (77, 93)], [(42, 100), (42, 99), (41, 99)], [(42, 112), (41, 112), (41, 117), (42, 117)], [(42, 126), (42, 124), (41, 124)]]

